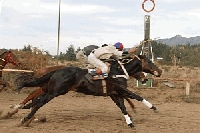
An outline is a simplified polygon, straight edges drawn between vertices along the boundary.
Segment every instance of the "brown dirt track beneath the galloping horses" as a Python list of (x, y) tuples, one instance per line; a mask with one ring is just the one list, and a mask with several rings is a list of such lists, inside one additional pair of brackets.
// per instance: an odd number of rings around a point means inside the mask
[[(132, 90), (133, 91), (133, 90)], [(20, 110), (9, 119), (0, 120), (3, 133), (199, 133), (200, 106), (186, 103), (184, 88), (180, 89), (135, 89), (153, 103), (159, 113), (154, 113), (141, 102), (132, 100), (134, 113), (126, 102), (127, 111), (134, 117), (135, 130), (126, 125), (119, 108), (109, 97), (85, 96), (71, 92), (53, 99), (37, 112), (37, 117), (46, 116), (47, 121), (33, 122), (29, 127), (18, 127), (20, 119), (29, 110)], [(1, 109), (9, 111), (9, 105), (19, 103), (27, 93), (2, 92)]]

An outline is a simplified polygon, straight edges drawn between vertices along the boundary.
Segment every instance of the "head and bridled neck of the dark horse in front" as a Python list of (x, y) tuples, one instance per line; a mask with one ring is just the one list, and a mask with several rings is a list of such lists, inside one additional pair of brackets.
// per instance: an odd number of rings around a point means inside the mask
[(141, 72), (150, 73), (160, 77), (162, 70), (159, 69), (150, 59), (145, 55), (127, 55), (120, 60), (109, 62), (111, 64), (109, 75), (125, 75), (126, 78), (135, 77), (136, 79), (144, 78), (144, 75), (137, 76)]

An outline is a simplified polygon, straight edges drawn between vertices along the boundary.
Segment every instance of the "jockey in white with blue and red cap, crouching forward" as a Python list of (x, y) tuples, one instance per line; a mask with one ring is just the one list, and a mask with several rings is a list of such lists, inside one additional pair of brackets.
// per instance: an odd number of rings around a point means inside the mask
[[(102, 47), (93, 50), (88, 56), (88, 62), (100, 69), (97, 71), (98, 74), (102, 74), (103, 77), (108, 76), (109, 63), (104, 63), (101, 59), (109, 59), (111, 56), (122, 57), (124, 46), (121, 42), (117, 42), (114, 45), (104, 44)], [(132, 48), (128, 53), (135, 52), (137, 48)], [(126, 52), (127, 53), (127, 52)]]

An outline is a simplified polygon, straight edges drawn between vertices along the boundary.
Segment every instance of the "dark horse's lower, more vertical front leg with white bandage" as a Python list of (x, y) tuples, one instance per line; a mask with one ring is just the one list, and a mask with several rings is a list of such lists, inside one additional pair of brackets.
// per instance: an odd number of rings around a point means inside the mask
[(128, 112), (126, 111), (126, 107), (124, 105), (124, 99), (120, 98), (119, 96), (116, 96), (116, 95), (111, 95), (110, 97), (116, 103), (116, 105), (121, 109), (121, 111), (124, 114), (124, 117), (126, 119), (127, 125), (130, 126), (131, 128), (133, 128), (134, 125), (131, 121), (130, 114), (128, 114)]

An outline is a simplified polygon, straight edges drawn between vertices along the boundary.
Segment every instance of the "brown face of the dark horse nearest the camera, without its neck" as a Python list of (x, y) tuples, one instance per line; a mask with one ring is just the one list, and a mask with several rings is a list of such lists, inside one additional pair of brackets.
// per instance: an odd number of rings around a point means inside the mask
[(142, 71), (160, 77), (162, 70), (159, 69), (150, 59), (145, 55), (138, 55), (142, 63)]

